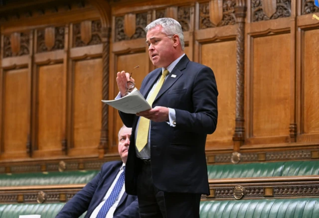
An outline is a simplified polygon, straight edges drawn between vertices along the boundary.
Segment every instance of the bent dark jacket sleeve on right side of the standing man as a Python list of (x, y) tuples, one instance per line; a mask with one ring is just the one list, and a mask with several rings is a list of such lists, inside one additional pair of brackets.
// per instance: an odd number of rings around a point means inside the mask
[(175, 128), (212, 134), (217, 126), (217, 96), (218, 91), (213, 71), (209, 67), (201, 68), (193, 83), (193, 112), (175, 109)]

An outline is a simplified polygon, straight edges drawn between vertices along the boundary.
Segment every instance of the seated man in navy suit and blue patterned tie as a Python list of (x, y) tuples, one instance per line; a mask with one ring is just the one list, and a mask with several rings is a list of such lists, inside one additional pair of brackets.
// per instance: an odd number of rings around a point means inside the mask
[(125, 192), (125, 163), (128, 157), (132, 128), (125, 125), (119, 131), (119, 153), (122, 161), (103, 164), (91, 182), (68, 201), (56, 218), (139, 218), (136, 196)]

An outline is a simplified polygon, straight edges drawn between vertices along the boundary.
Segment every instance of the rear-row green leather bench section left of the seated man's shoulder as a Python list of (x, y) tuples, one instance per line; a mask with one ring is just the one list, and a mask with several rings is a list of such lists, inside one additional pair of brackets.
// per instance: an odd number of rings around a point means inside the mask
[(0, 174), (0, 186), (86, 184), (98, 170)]

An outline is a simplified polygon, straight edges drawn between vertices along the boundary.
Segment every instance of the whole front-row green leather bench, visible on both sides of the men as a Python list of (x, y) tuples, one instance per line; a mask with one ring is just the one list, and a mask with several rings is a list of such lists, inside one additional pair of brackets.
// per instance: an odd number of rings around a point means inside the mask
[[(19, 215), (31, 214), (41, 215), (41, 218), (54, 218), (63, 205), (63, 203), (0, 205), (0, 218), (18, 218)], [(317, 217), (319, 217), (319, 198), (200, 202), (200, 218)]]

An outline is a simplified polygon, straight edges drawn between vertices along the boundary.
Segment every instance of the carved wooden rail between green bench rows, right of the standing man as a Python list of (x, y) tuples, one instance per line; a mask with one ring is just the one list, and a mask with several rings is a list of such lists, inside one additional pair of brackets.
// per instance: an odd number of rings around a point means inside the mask
[(241, 199), (309, 198), (319, 195), (319, 176), (211, 179), (210, 195), (202, 199), (235, 200), (239, 186), (243, 188)]

